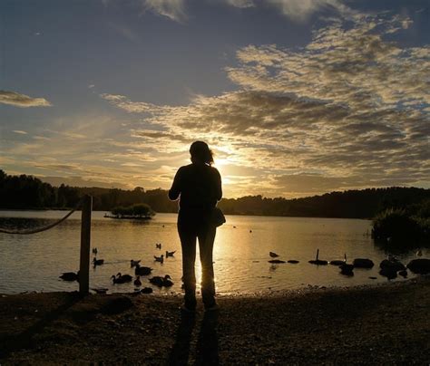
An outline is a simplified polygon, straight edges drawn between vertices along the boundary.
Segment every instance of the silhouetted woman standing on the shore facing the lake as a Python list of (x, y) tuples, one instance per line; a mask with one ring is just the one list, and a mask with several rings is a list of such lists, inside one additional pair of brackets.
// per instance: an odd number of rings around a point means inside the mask
[(221, 177), (213, 163), (212, 151), (203, 141), (191, 144), (191, 164), (178, 169), (169, 197), (180, 197), (178, 232), (182, 246), (182, 281), (185, 290), (184, 310), (196, 308), (196, 240), (199, 239), (201, 296), (206, 310), (218, 308), (215, 302), (212, 249), (216, 226), (210, 222), (213, 208), (222, 197)]

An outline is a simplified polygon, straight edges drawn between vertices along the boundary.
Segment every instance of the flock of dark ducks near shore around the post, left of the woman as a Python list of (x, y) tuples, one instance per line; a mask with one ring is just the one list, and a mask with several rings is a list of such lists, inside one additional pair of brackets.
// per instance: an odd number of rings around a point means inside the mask
[[(161, 243), (155, 244), (155, 247), (161, 250)], [(94, 255), (93, 257), (94, 268), (98, 265), (103, 265), (104, 259), (97, 259), (96, 257), (96, 255), (98, 254), (98, 250), (96, 247), (93, 248), (92, 253)], [(166, 258), (173, 257), (175, 253), (176, 253), (176, 250), (172, 252), (169, 252), (166, 250), (165, 257)], [(164, 255), (160, 255), (160, 256), (154, 255), (154, 262), (158, 262), (162, 264), (164, 262)], [(112, 274), (111, 276), (112, 284), (128, 284), (132, 282), (135, 286), (135, 292), (140, 292), (142, 294), (151, 294), (152, 293), (151, 287), (144, 287), (142, 290), (140, 289), (140, 287), (142, 286), (141, 277), (150, 275), (152, 272), (152, 268), (147, 266), (142, 266), (140, 265), (140, 263), (141, 263), (141, 259), (130, 260), (130, 267), (134, 268), (134, 275), (135, 275), (134, 281), (133, 281), (132, 275), (122, 274), (121, 272), (119, 272), (118, 274)], [(64, 281), (79, 282), (79, 271), (77, 273), (65, 272), (64, 274), (60, 275), (60, 278)], [(164, 276), (160, 276), (160, 275), (152, 276), (151, 278), (148, 279), (148, 281), (157, 287), (171, 287), (173, 285), (173, 282), (171, 281), (171, 276), (169, 274), (166, 274)], [(97, 294), (106, 294), (109, 289), (92, 288), (92, 290)]]

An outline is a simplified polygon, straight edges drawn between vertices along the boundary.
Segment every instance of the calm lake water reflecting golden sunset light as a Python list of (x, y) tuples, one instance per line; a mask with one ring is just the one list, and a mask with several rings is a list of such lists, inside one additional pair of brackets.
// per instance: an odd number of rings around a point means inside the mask
[[(1, 227), (43, 226), (64, 217), (66, 211), (0, 211)], [(133, 274), (130, 260), (141, 259), (151, 266), (153, 275), (170, 274), (174, 285), (154, 288), (158, 294), (181, 293), (181, 244), (176, 231), (176, 214), (158, 214), (149, 221), (105, 218), (105, 212), (93, 212), (92, 247), (104, 265), (91, 268), (90, 287), (107, 287), (110, 292), (132, 292), (133, 284), (112, 284), (112, 274)], [(31, 291), (73, 291), (77, 283), (58, 278), (63, 272), (79, 268), (81, 213), (75, 212), (64, 223), (34, 235), (0, 233), (0, 293)], [(361, 219), (309, 217), (227, 216), (217, 231), (214, 269), (217, 293), (254, 294), (297, 289), (308, 285), (354, 286), (376, 284), (387, 279), (378, 274), (383, 249), (375, 246), (369, 233), (371, 222)], [(161, 243), (161, 250), (155, 244)], [(353, 277), (339, 274), (334, 265), (308, 264), (315, 259), (365, 257), (375, 262), (370, 270), (355, 269)], [(174, 257), (155, 263), (153, 255), (176, 251)], [(270, 265), (269, 251), (279, 259), (296, 259), (297, 265)], [(428, 256), (428, 249), (423, 249)], [(415, 251), (397, 256), (403, 263), (415, 258)], [(92, 255), (93, 259), (93, 255)], [(197, 261), (198, 283), (200, 263)], [(376, 276), (375, 280), (370, 276)], [(413, 277), (409, 274), (409, 278)], [(143, 285), (150, 285), (142, 277)], [(402, 281), (397, 278), (394, 281)]]

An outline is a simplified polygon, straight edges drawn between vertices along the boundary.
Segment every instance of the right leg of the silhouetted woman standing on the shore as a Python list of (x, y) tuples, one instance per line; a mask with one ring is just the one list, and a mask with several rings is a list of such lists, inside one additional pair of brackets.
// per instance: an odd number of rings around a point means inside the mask
[(215, 304), (212, 251), (216, 232), (216, 226), (203, 226), (198, 233), (201, 262), (201, 296), (205, 307)]

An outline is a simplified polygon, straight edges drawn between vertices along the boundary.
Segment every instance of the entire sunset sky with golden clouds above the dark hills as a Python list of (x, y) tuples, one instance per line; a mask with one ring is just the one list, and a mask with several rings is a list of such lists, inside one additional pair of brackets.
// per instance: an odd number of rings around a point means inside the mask
[(427, 0), (3, 0), (0, 168), (225, 197), (430, 188)]

